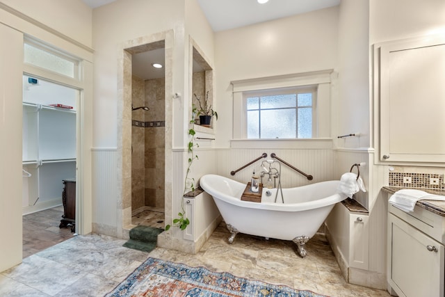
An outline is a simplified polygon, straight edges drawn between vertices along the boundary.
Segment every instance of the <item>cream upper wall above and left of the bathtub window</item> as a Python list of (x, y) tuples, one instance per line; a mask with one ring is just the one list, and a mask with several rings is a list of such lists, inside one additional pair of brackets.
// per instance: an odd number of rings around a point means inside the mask
[(216, 33), (218, 147), (232, 139), (230, 81), (333, 69), (338, 22), (334, 7)]

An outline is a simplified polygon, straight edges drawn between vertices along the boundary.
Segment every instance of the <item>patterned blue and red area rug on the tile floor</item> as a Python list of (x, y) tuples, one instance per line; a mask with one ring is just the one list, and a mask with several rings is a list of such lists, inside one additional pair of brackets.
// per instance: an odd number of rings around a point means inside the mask
[(284, 285), (237, 278), (227, 272), (216, 273), (204, 267), (189, 267), (151, 257), (106, 295), (111, 296), (325, 297), (312, 291), (298, 291)]

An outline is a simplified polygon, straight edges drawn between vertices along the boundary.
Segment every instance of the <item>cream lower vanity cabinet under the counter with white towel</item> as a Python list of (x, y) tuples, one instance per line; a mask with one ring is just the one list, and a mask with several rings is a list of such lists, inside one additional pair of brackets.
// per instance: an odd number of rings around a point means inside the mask
[(388, 291), (443, 297), (445, 217), (421, 207), (407, 214), (389, 204), (388, 211)]

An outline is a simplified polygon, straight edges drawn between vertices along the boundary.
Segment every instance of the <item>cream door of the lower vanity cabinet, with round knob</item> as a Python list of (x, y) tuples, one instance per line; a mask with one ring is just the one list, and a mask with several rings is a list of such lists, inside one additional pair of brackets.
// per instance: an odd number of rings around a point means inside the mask
[(444, 246), (389, 215), (389, 283), (398, 296), (444, 296)]

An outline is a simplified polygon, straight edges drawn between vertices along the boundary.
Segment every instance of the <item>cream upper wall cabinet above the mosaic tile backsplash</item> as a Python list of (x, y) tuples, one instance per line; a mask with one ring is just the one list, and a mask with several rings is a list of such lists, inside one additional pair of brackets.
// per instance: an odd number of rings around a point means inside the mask
[(445, 36), (375, 45), (375, 148), (380, 163), (445, 162), (444, 81)]

